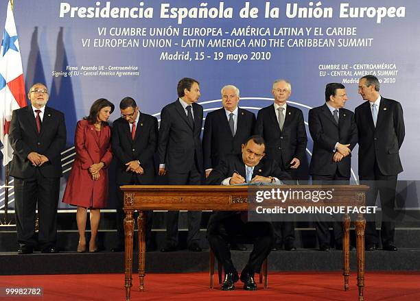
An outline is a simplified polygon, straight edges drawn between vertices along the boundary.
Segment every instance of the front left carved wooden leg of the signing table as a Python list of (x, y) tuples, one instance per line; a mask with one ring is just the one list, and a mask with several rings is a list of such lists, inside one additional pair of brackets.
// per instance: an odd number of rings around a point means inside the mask
[(124, 252), (124, 265), (126, 271), (125, 287), (126, 301), (130, 300), (130, 291), (132, 287), (132, 236), (134, 234), (134, 219), (132, 218), (133, 210), (125, 210), (126, 218), (124, 218), (124, 232), (126, 249)]

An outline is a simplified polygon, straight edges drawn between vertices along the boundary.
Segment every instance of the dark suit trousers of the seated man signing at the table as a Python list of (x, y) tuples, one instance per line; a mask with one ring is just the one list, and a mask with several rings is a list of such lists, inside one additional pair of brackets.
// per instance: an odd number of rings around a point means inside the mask
[(253, 252), (250, 253), (248, 263), (242, 269), (242, 273), (259, 273), (262, 263), (270, 254), (272, 245), (275, 243), (271, 223), (268, 221), (248, 221), (244, 223), (241, 215), (236, 213), (209, 225), (207, 239), (215, 257), (222, 263), (225, 274), (236, 272), (231, 259), (229, 243), (233, 242), (238, 234), (250, 237), (254, 241)]

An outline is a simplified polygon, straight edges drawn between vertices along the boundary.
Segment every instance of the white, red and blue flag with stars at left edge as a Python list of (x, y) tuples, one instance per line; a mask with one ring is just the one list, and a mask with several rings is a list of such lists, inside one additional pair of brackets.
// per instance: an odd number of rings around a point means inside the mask
[(13, 158), (9, 144), (12, 111), (26, 106), (25, 82), (16, 25), (10, 1), (0, 50), (0, 140), (3, 143), (3, 165)]

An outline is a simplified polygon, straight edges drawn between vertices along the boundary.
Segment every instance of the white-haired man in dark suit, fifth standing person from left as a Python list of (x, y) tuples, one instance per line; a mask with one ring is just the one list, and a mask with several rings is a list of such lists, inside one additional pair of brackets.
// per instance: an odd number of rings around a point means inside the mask
[[(241, 146), (253, 134), (255, 115), (239, 108), (240, 91), (233, 85), (222, 88), (223, 108), (207, 114), (202, 134), (202, 152), (206, 177), (227, 154), (241, 154)], [(246, 246), (233, 243), (233, 250), (246, 251)]]

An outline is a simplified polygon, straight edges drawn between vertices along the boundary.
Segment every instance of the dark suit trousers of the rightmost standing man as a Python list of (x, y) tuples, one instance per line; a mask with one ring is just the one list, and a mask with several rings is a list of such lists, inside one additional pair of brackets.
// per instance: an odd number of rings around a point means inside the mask
[[(381, 240), (382, 246), (394, 243), (395, 234), (395, 189), (397, 187), (398, 175), (385, 176), (381, 173), (377, 162), (371, 174), (359, 176), (360, 184), (368, 185), (369, 191), (366, 193), (366, 206), (375, 206), (377, 195), (379, 193), (382, 210)], [(366, 245), (377, 245), (378, 235), (375, 221), (366, 222), (364, 234)]]

